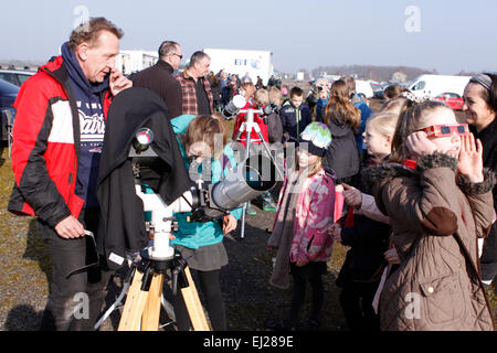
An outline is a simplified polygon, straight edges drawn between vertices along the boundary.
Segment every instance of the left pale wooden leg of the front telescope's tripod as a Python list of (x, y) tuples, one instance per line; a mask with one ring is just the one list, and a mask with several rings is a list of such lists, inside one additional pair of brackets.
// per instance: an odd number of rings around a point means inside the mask
[(144, 313), (145, 304), (147, 303), (148, 291), (141, 290), (141, 278), (144, 274), (136, 270), (133, 278), (131, 287), (126, 298), (126, 303), (119, 321), (118, 331), (138, 331), (141, 322), (141, 314)]

